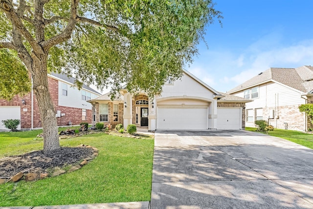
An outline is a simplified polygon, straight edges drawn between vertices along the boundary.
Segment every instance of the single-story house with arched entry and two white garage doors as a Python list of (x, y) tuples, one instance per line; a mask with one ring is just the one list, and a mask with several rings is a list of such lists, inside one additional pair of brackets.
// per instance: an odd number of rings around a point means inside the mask
[(245, 103), (251, 100), (219, 93), (184, 70), (180, 80), (168, 82), (163, 92), (148, 97), (126, 88), (111, 101), (109, 94), (90, 99), (93, 124), (104, 122), (148, 127), (148, 130), (245, 128)]

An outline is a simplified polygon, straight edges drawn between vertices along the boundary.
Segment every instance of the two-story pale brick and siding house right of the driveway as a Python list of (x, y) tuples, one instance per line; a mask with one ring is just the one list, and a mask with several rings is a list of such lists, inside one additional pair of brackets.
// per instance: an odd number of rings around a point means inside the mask
[(306, 131), (311, 127), (301, 104), (313, 103), (313, 67), (270, 68), (227, 92), (252, 99), (246, 104), (246, 126), (264, 119), (274, 128)]

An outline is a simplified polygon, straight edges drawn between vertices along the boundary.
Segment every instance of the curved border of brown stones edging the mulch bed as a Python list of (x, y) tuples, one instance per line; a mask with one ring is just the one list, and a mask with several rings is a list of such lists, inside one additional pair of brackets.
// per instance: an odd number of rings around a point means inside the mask
[[(86, 165), (89, 161), (93, 160), (99, 154), (98, 153), (99, 150), (93, 146), (90, 146), (90, 145), (80, 144), (77, 147), (92, 148), (93, 149), (92, 157), (85, 158), (85, 159), (83, 159), (83, 161), (80, 164), (71, 166), (67, 172), (65, 170), (58, 169), (58, 170), (54, 171), (50, 177), (59, 176), (59, 175), (64, 174), (64, 173), (71, 173), (75, 170), (78, 170), (82, 166)], [(22, 172), (19, 172), (10, 178), (1, 178), (0, 177), (0, 184), (17, 182), (17, 181), (22, 180), (23, 177), (24, 177), (24, 180), (26, 182), (32, 182), (32, 181), (45, 179), (45, 178), (49, 177), (49, 174), (48, 173), (27, 173), (27, 174), (24, 174)]]

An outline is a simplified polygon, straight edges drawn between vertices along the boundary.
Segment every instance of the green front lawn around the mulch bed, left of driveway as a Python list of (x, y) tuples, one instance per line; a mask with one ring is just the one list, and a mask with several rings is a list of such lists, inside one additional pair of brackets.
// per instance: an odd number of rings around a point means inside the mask
[[(0, 133), (0, 158), (43, 148), (41, 131)], [(154, 140), (92, 134), (61, 139), (62, 146), (88, 144), (99, 155), (81, 169), (36, 182), (0, 185), (0, 206), (45, 206), (150, 201)], [(4, 149), (2, 147), (5, 147)]]

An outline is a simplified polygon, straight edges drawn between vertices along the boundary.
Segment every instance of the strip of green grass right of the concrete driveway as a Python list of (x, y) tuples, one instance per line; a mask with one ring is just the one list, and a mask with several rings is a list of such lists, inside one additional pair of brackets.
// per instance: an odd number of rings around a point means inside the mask
[[(246, 127), (246, 130), (256, 131), (256, 128)], [(274, 131), (268, 131), (268, 135), (287, 139), (313, 149), (313, 134), (307, 134), (300, 131), (274, 129)]]

